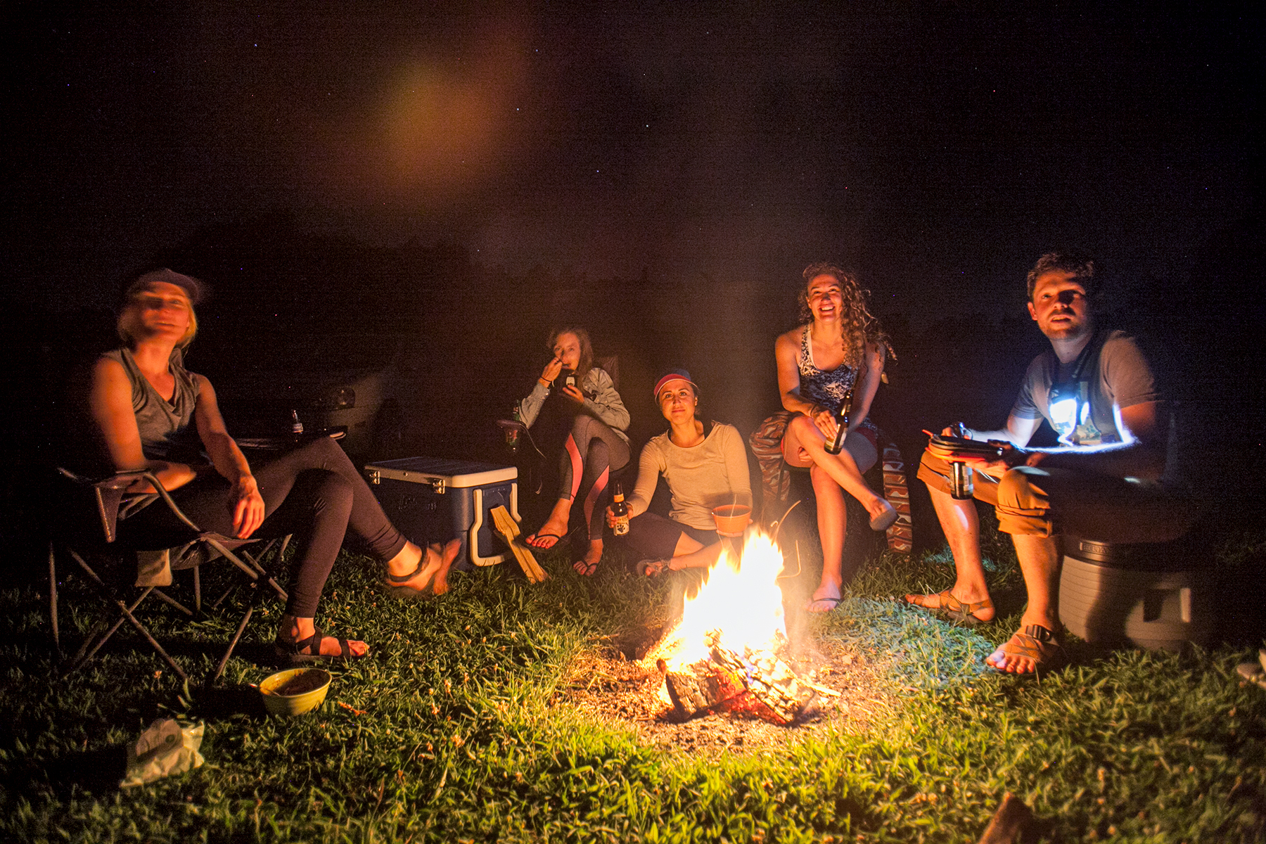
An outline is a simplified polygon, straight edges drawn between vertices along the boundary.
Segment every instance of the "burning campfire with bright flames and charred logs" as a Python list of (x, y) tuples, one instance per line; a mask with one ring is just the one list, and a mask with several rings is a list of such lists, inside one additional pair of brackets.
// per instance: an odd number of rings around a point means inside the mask
[(729, 711), (794, 724), (817, 695), (838, 696), (785, 661), (781, 571), (777, 545), (751, 531), (742, 555), (727, 545), (708, 582), (686, 599), (681, 623), (647, 654), (677, 717)]

